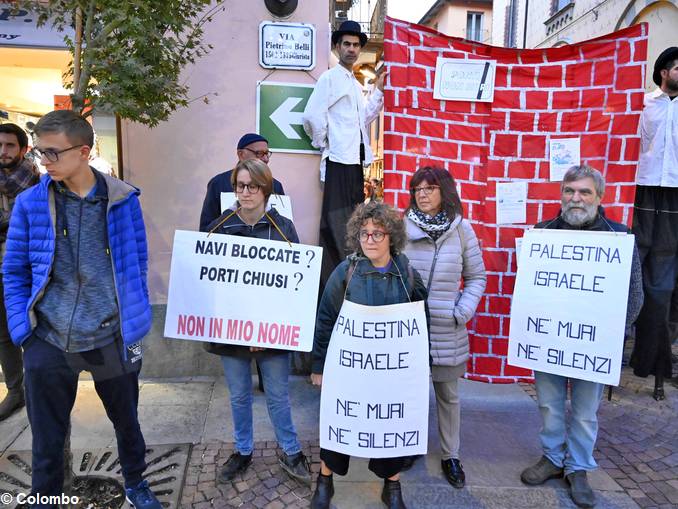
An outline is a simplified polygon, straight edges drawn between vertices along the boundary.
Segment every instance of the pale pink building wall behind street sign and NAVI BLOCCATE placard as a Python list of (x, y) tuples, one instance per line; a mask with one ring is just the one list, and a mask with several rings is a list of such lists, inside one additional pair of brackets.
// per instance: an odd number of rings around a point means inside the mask
[[(145, 359), (149, 359), (144, 360), (145, 376), (220, 372), (215, 356), (202, 352), (199, 342), (163, 338), (174, 232), (198, 229), (207, 182), (235, 166), (238, 139), (257, 131), (257, 83), (313, 85), (329, 65), (328, 0), (299, 2), (284, 19), (274, 17), (264, 0), (230, 0), (226, 7), (205, 26), (205, 41), (212, 51), (184, 73), (191, 95), (207, 96), (209, 103), (193, 101), (153, 129), (122, 123), (124, 175), (141, 189), (150, 254), (148, 286), (154, 323), (145, 342)], [(315, 68), (301, 71), (260, 66), (262, 21), (314, 25)], [(317, 244), (320, 156), (274, 152), (269, 164), (291, 198), (301, 242)]]

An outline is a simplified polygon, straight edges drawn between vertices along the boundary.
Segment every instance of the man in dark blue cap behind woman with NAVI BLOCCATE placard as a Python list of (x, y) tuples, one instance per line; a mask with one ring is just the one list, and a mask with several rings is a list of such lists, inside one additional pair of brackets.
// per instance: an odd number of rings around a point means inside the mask
[[(257, 158), (268, 164), (271, 159), (271, 152), (268, 150), (268, 140), (256, 133), (247, 133), (238, 141), (238, 161)], [(202, 204), (200, 213), (200, 231), (205, 231), (207, 225), (221, 215), (221, 193), (232, 193), (231, 173), (228, 170), (220, 173), (207, 183), (207, 193), (205, 201)], [(282, 184), (273, 179), (273, 192), (275, 194), (285, 194)]]

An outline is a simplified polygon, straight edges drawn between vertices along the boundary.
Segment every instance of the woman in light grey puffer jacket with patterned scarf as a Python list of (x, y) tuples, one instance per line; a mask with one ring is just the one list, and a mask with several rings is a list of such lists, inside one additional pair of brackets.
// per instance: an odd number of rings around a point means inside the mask
[(442, 168), (424, 167), (412, 177), (405, 226), (405, 253), (428, 290), (431, 376), (438, 410), (441, 466), (447, 481), (462, 488), (465, 474), (459, 461), (457, 381), (466, 372), (466, 323), (473, 318), (485, 291), (485, 265), (473, 228), (462, 217), (454, 179)]

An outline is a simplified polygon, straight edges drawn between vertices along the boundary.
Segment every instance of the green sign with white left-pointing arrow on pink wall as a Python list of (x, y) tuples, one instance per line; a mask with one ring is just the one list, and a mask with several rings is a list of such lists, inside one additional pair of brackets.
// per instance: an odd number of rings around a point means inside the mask
[(257, 83), (257, 131), (274, 152), (318, 154), (304, 132), (301, 115), (312, 85), (298, 83)]

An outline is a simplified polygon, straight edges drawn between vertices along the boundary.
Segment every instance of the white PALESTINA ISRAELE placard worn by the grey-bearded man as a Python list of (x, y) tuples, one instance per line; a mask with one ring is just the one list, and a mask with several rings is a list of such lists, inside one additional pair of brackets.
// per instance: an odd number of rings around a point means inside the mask
[(633, 245), (624, 233), (525, 232), (509, 364), (619, 385)]

